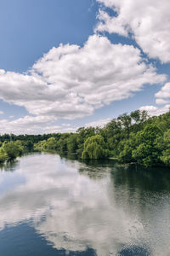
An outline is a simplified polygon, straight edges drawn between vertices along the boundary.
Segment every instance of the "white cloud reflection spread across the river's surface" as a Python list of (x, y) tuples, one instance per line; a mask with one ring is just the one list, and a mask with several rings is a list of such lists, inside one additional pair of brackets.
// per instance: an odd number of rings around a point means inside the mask
[[(28, 221), (57, 249), (84, 251), (91, 247), (97, 255), (106, 256), (116, 255), (124, 245), (150, 243), (159, 252), (154, 255), (167, 255), (161, 254), (160, 247), (163, 242), (170, 251), (169, 226), (164, 223), (169, 220), (167, 201), (159, 208), (159, 215), (150, 211), (150, 205), (142, 211), (139, 193), (129, 201), (127, 190), (112, 182), (111, 171), (111, 166), (96, 168), (54, 154), (21, 158), (14, 175), (24, 177), (25, 182), (14, 179), (14, 189), (0, 194), (0, 229)], [(91, 172), (93, 178), (88, 177)], [(100, 176), (102, 172), (105, 174)], [(157, 211), (156, 206), (151, 207)], [(146, 213), (148, 220), (144, 218)], [(154, 223), (160, 217), (162, 224)], [(159, 247), (153, 239), (158, 237), (157, 231), (161, 234), (159, 242), (155, 240)]]

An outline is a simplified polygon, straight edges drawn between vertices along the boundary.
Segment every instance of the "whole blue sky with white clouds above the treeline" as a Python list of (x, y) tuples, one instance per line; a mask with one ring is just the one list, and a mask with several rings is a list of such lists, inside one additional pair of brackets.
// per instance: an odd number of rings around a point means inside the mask
[(0, 0), (0, 133), (170, 107), (169, 0)]

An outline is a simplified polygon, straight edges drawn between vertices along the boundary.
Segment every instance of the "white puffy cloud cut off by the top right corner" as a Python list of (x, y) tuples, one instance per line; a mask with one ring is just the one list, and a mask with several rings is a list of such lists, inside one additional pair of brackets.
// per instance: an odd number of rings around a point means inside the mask
[(133, 38), (150, 56), (161, 62), (170, 61), (170, 2), (169, 0), (98, 0), (116, 12), (111, 17), (105, 11), (99, 12), (96, 31), (115, 32)]

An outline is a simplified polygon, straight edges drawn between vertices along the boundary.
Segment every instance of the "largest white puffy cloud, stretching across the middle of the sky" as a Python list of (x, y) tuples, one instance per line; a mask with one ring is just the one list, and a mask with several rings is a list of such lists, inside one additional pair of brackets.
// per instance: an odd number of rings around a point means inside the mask
[(59, 118), (90, 115), (105, 104), (133, 96), (144, 84), (165, 80), (144, 62), (139, 49), (93, 35), (82, 48), (60, 44), (50, 49), (27, 73), (1, 70), (0, 99), (31, 114), (3, 122), (9, 130), (33, 131)]

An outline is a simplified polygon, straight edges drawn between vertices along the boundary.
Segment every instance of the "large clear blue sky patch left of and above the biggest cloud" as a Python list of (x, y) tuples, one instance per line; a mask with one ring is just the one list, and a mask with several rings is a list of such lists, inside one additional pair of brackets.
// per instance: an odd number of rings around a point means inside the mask
[(91, 0), (0, 1), (0, 67), (25, 72), (53, 46), (82, 45), (94, 33)]

